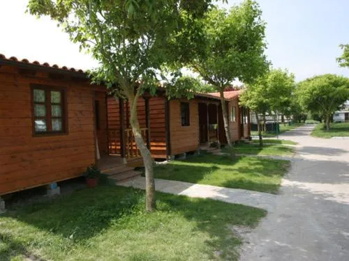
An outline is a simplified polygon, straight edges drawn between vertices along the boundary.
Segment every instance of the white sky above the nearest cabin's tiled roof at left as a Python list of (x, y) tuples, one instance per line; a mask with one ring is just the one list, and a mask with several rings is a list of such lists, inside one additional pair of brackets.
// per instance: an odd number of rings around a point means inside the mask
[(80, 53), (79, 46), (48, 17), (36, 19), (25, 13), (27, 2), (0, 0), (0, 54), (83, 70), (98, 65), (91, 56)]

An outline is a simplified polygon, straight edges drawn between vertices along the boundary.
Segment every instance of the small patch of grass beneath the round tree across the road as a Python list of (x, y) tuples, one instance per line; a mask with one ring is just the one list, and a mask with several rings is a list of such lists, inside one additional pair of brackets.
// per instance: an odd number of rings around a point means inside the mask
[(330, 139), (336, 136), (349, 136), (349, 122), (330, 123), (329, 131), (326, 130), (323, 123), (316, 125), (311, 133), (311, 136)]

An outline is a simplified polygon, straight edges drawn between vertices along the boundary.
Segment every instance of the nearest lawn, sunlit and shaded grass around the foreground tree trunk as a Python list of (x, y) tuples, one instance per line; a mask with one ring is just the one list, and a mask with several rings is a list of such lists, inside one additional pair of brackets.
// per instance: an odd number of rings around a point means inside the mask
[(117, 186), (75, 191), (0, 216), (0, 260), (237, 260), (233, 226), (255, 227), (262, 209)]

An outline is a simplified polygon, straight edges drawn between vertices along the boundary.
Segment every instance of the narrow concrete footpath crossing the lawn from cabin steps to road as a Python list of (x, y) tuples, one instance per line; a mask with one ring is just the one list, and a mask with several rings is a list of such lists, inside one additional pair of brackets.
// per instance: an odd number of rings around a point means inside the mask
[[(145, 178), (137, 177), (133, 180), (118, 183), (124, 187), (134, 187), (136, 189), (145, 189)], [(156, 191), (171, 193), (174, 195), (185, 195), (193, 198), (211, 198), (221, 200), (227, 203), (237, 203), (251, 207), (267, 209), (268, 212), (274, 211), (276, 195), (250, 191), (245, 189), (228, 189), (211, 185), (193, 184), (188, 182), (174, 180), (155, 179)]]

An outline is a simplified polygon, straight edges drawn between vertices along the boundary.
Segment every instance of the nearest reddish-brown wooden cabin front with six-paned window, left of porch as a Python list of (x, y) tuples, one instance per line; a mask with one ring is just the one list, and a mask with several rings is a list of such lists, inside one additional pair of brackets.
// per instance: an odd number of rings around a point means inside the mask
[(0, 195), (78, 177), (107, 150), (106, 88), (81, 70), (1, 55), (0, 98)]

